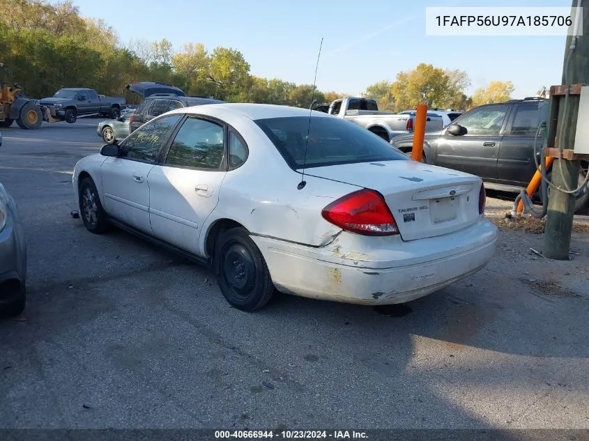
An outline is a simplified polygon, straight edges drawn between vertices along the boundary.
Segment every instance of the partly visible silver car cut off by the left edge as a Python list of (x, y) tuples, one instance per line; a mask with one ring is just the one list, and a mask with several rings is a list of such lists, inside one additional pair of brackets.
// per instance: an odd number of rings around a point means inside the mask
[(0, 183), (0, 317), (17, 316), (24, 311), (25, 284), (24, 228), (15, 201)]

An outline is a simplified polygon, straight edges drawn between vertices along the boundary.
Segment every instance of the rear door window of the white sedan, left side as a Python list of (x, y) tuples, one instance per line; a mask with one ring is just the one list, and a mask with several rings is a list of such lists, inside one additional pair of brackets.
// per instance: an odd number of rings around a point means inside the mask
[(223, 156), (223, 127), (191, 116), (178, 130), (165, 163), (192, 169), (218, 170)]

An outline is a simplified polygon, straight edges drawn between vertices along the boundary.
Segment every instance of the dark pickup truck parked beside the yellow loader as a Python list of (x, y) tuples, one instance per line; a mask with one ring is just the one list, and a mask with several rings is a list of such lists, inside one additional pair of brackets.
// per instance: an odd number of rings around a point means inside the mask
[(49, 109), (52, 117), (75, 123), (78, 116), (99, 114), (116, 119), (121, 116), (125, 98), (98, 95), (91, 88), (61, 88), (52, 98), (41, 98), (39, 104)]

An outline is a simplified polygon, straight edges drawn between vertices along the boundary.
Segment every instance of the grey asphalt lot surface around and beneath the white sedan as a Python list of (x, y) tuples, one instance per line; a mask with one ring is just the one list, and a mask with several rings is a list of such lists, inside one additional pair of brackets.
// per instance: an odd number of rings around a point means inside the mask
[(1, 132), (29, 279), (0, 321), (0, 428), (589, 428), (589, 290), (546, 301), (498, 252), (386, 311), (232, 309), (208, 269), (70, 217), (96, 123)]

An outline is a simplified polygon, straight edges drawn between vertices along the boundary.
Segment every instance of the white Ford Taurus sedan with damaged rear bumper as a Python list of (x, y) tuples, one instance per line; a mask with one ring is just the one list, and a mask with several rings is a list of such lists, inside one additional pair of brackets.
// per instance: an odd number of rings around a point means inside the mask
[(480, 178), (421, 164), (321, 112), (255, 104), (169, 111), (75, 166), (80, 215), (213, 266), (238, 309), (275, 289), (408, 302), (494, 255)]

